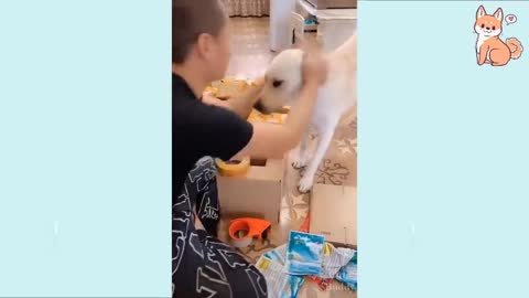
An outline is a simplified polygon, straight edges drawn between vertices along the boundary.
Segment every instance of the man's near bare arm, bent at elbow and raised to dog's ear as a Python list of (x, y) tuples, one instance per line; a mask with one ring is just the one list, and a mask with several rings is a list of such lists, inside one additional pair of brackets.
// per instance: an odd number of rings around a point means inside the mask
[(307, 129), (317, 99), (317, 88), (325, 83), (327, 62), (322, 55), (307, 54), (303, 61), (303, 86), (296, 104), (291, 108), (284, 125), (253, 124), (253, 134), (237, 158), (280, 158), (294, 148)]

